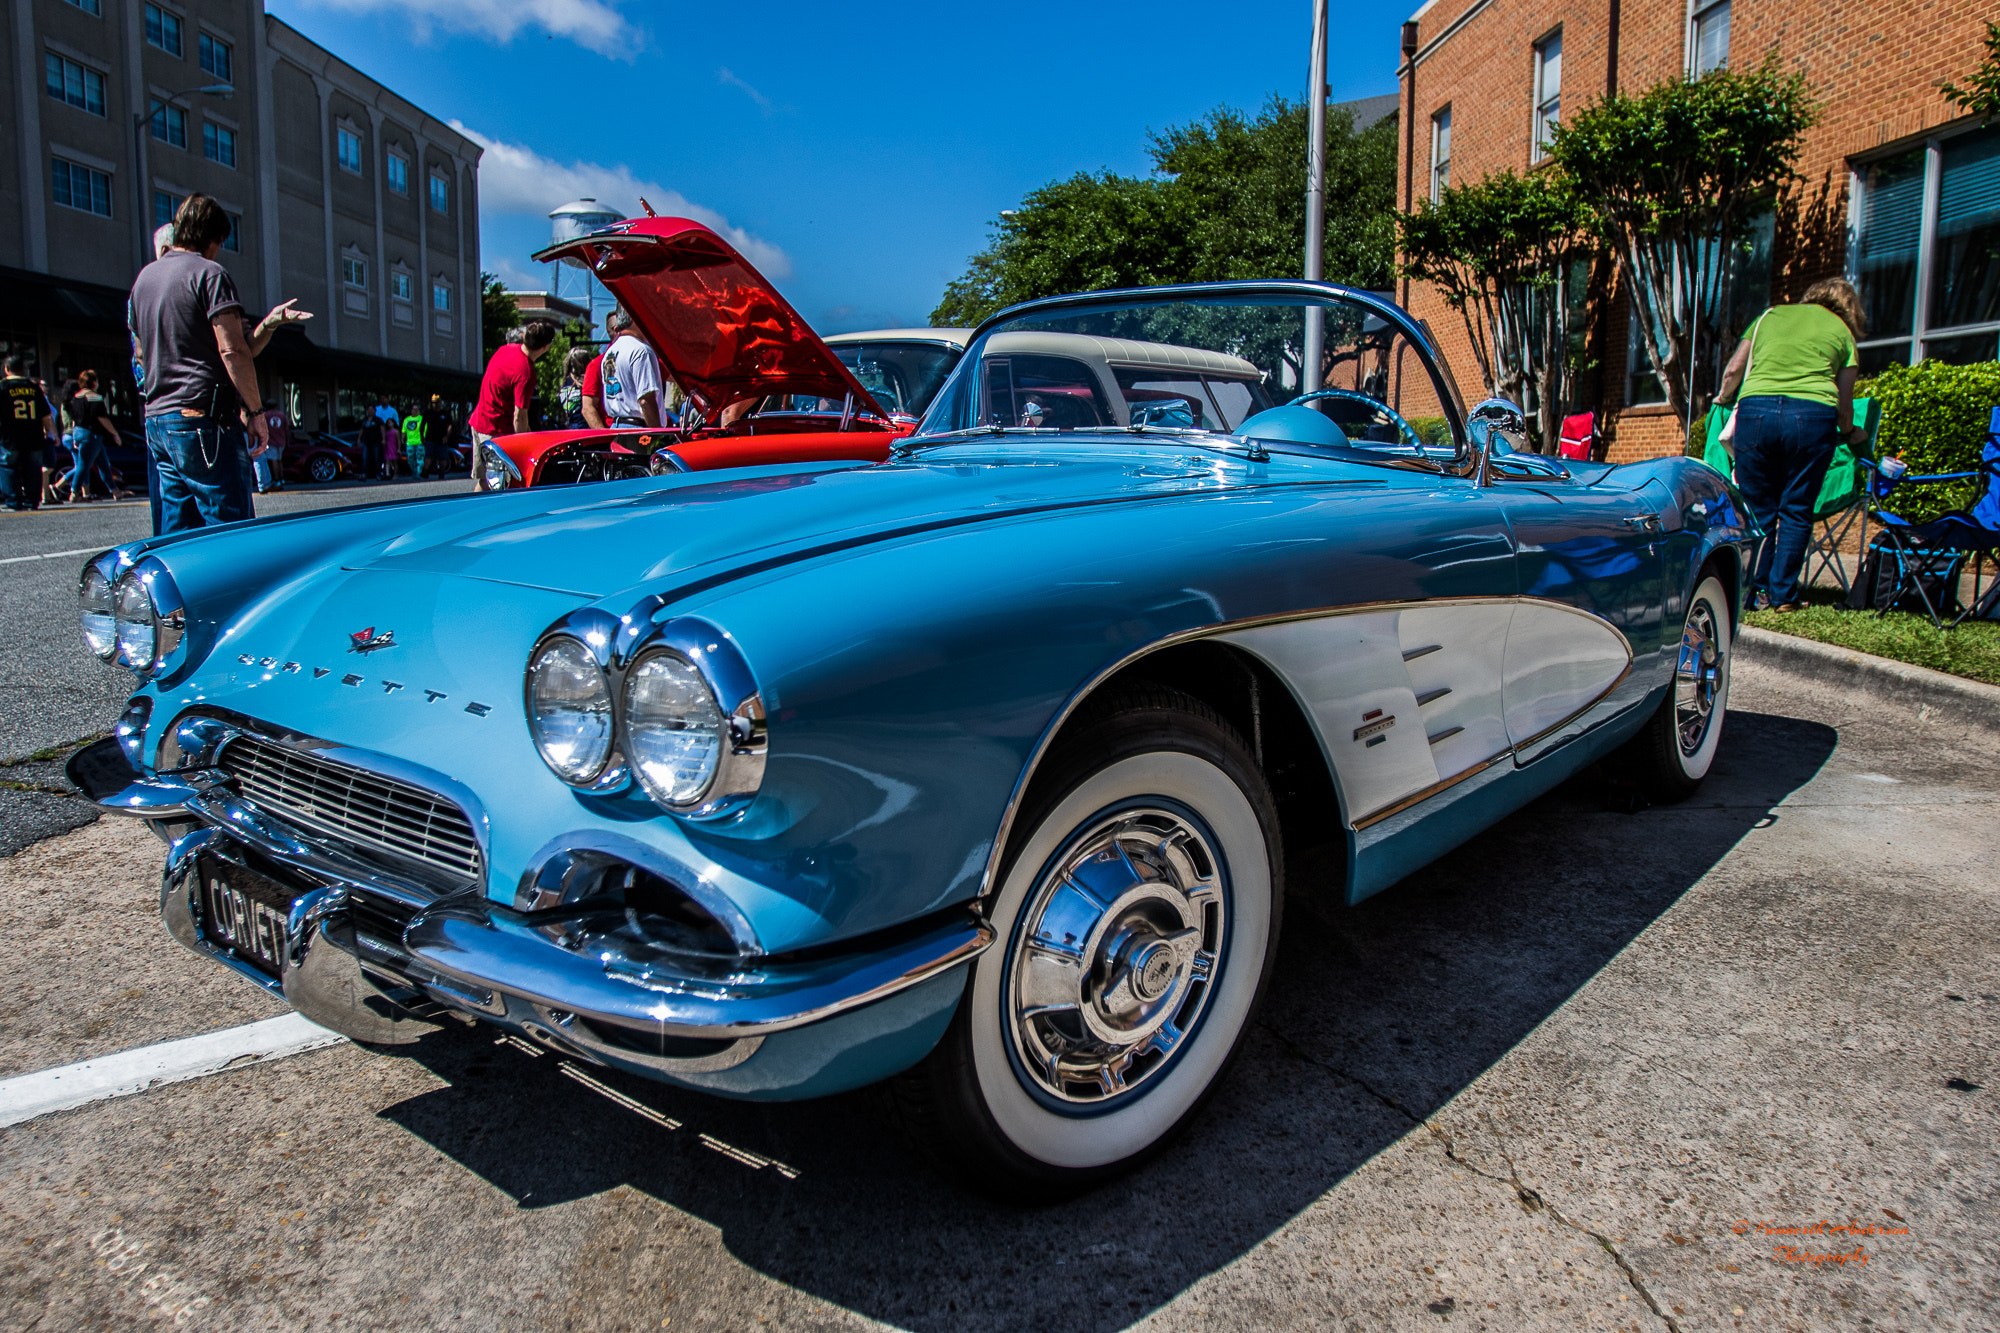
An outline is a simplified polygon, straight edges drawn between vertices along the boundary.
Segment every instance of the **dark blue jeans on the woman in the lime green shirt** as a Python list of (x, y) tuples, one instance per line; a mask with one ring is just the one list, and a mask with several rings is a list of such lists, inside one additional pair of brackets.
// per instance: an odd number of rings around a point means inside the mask
[(1812, 506), (1840, 444), (1834, 408), (1810, 398), (1758, 394), (1736, 404), (1736, 484), (1764, 528), (1750, 592), (1776, 604), (1798, 600)]

